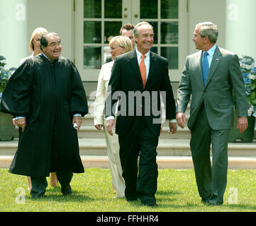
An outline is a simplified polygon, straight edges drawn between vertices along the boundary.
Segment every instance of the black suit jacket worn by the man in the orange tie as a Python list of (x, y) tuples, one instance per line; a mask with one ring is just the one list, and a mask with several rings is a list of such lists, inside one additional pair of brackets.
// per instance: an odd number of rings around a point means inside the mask
[[(116, 96), (119, 97), (121, 106), (118, 108), (120, 114), (116, 119), (116, 133), (126, 135), (128, 132), (138, 131), (145, 119), (150, 131), (159, 136), (160, 91), (165, 91), (163, 100), (166, 102), (166, 119), (175, 119), (175, 101), (169, 81), (167, 59), (150, 52), (150, 70), (143, 89), (135, 49), (116, 57), (106, 97), (106, 117), (113, 116), (114, 111), (111, 109), (115, 109)], [(144, 97), (141, 98), (140, 94)]]

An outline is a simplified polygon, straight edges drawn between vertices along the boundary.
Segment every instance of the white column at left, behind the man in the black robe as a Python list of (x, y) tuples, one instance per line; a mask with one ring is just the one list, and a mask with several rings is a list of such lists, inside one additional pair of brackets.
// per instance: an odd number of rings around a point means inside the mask
[(0, 55), (6, 69), (18, 67), (28, 56), (26, 0), (0, 0)]

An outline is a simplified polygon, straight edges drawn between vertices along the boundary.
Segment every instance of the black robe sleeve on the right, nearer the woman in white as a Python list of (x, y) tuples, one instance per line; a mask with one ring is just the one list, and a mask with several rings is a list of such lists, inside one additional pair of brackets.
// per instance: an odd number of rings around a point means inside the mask
[(82, 114), (82, 117), (84, 117), (88, 113), (87, 95), (76, 66), (72, 61), (69, 61), (69, 66), (72, 68), (70, 112), (72, 114)]

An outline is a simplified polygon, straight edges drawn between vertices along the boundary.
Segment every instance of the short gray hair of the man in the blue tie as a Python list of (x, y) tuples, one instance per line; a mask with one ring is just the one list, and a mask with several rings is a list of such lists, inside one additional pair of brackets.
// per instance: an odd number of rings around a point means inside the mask
[(217, 25), (211, 22), (198, 23), (196, 28), (199, 28), (199, 35), (201, 37), (209, 37), (211, 43), (216, 43), (218, 39), (218, 28)]

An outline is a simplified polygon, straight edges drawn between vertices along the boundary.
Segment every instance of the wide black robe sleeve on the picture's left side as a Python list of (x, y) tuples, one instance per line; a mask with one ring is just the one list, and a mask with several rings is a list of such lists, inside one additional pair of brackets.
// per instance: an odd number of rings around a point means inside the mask
[(28, 59), (9, 79), (1, 98), (0, 111), (14, 117), (30, 112), (30, 89), (33, 83), (33, 62)]

